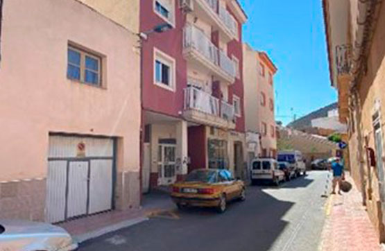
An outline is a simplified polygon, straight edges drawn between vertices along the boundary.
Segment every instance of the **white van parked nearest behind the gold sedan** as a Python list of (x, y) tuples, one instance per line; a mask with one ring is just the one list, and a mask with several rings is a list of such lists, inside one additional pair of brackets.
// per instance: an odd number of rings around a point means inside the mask
[(253, 159), (250, 173), (252, 184), (267, 180), (278, 185), (285, 180), (284, 172), (280, 170), (277, 160), (272, 158)]

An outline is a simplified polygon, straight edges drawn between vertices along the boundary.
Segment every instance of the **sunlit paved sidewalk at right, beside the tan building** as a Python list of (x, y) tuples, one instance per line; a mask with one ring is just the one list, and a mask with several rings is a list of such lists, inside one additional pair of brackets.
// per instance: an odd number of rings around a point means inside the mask
[(336, 194), (326, 203), (327, 218), (323, 228), (321, 251), (374, 251), (382, 250), (377, 232), (361, 203), (361, 193), (350, 175), (346, 180), (352, 184), (349, 193)]

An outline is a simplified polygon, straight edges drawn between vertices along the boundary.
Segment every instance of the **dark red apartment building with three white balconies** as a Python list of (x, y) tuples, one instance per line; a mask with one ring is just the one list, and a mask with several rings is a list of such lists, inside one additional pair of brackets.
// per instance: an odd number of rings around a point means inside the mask
[(244, 114), (241, 27), (236, 0), (148, 0), (140, 31), (151, 33), (142, 58), (142, 186), (167, 185), (195, 168), (241, 175)]

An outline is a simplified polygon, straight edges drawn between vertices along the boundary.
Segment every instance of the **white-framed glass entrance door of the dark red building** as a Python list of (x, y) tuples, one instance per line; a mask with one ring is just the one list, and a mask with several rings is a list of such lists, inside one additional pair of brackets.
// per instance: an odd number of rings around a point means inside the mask
[(160, 144), (158, 149), (159, 184), (176, 182), (176, 145)]

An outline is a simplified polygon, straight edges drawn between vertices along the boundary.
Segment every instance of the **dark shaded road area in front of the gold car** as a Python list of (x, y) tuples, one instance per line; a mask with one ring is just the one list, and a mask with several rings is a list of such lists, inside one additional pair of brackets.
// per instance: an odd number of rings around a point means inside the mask
[[(268, 250), (288, 225), (282, 217), (293, 204), (250, 187), (246, 201), (232, 202), (224, 214), (201, 208), (177, 211), (179, 219), (151, 218), (87, 241), (79, 250)], [(108, 240), (117, 236), (121, 244), (112, 245)]]

